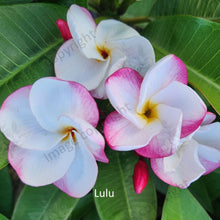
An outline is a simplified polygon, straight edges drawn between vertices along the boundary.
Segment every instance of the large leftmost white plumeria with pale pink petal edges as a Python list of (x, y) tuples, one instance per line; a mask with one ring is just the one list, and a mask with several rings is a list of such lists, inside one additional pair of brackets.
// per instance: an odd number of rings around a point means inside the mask
[(1, 107), (9, 162), (25, 184), (54, 183), (82, 197), (95, 184), (96, 160), (108, 162), (104, 138), (95, 129), (98, 119), (97, 105), (83, 86), (39, 79), (12, 93)]

